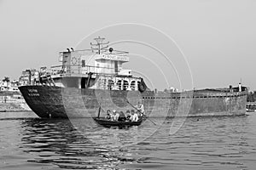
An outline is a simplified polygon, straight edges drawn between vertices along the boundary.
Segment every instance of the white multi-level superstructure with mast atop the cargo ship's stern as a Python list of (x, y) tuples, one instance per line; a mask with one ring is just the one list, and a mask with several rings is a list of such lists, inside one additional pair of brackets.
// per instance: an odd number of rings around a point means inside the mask
[[(129, 62), (128, 52), (102, 46), (104, 38), (95, 38), (98, 48), (59, 53), (61, 65), (50, 71), (41, 68), (40, 84), (61, 88), (93, 88), (108, 90), (145, 90), (140, 77), (132, 77), (131, 70), (123, 68)], [(143, 84), (142, 84), (143, 85)], [(140, 87), (140, 88), (139, 88)]]

